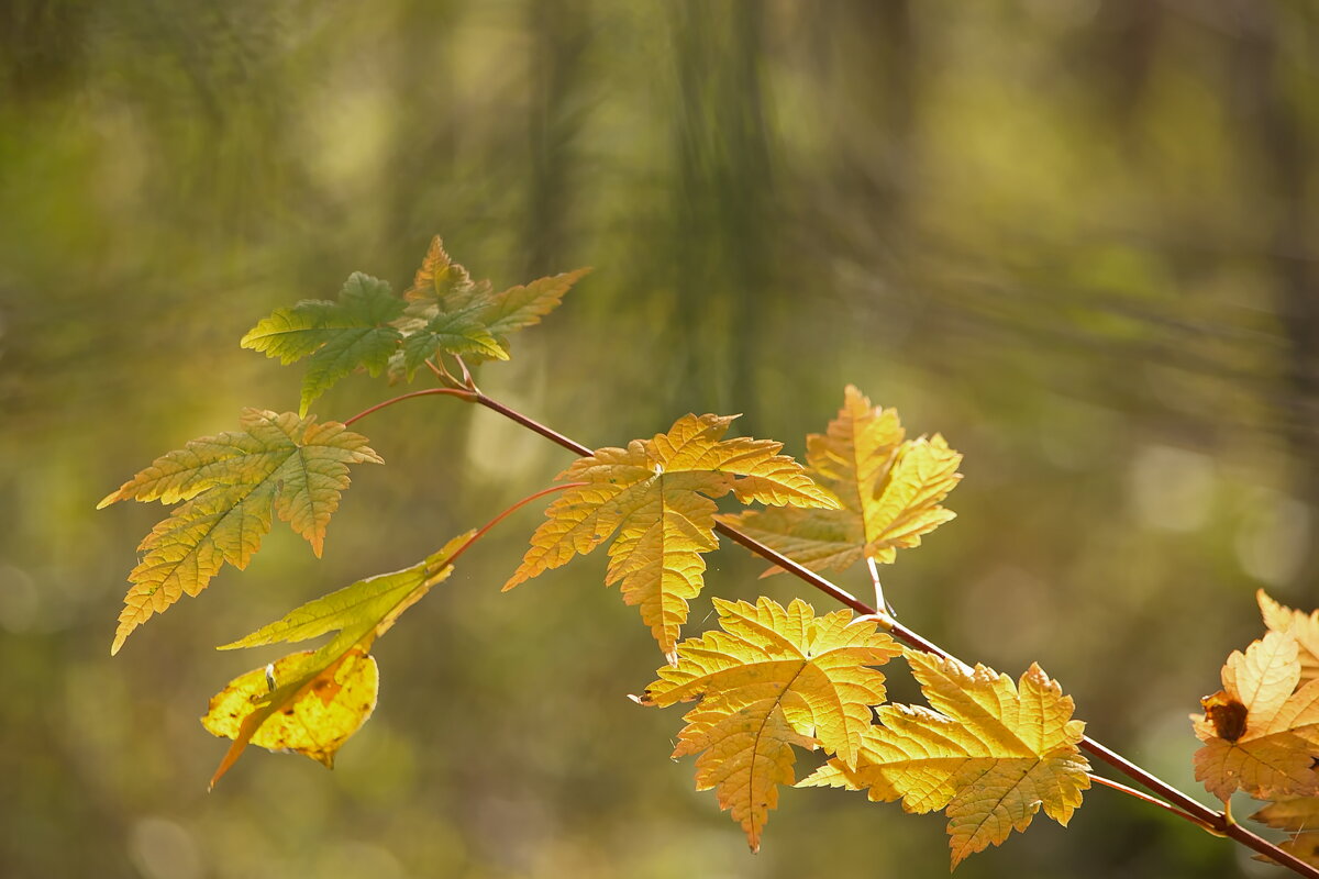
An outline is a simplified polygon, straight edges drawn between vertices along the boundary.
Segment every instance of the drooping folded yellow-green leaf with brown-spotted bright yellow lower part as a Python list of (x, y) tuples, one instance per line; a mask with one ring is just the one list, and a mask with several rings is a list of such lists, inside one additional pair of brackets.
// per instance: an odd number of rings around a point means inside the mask
[(371, 647), (376, 638), (452, 573), (450, 560), (472, 534), (460, 534), (410, 568), (359, 580), (220, 647), (297, 643), (338, 633), (319, 650), (290, 654), (240, 675), (211, 698), (202, 725), (233, 739), (211, 784), (233, 766), (249, 742), (332, 766), (339, 746), (375, 709), (379, 672)]

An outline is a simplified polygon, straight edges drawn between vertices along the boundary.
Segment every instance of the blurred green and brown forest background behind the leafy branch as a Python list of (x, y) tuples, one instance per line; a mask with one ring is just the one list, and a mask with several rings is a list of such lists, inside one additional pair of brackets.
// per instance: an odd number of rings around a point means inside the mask
[[(0, 4), (0, 875), (946, 875), (940, 816), (831, 791), (785, 791), (748, 854), (666, 759), (681, 712), (624, 698), (661, 658), (603, 553), (499, 593), (536, 510), (381, 640), (334, 772), (253, 749), (207, 793), (197, 718), (278, 655), (214, 644), (570, 459), (454, 401), (386, 410), (323, 561), (277, 527), (113, 660), (162, 513), (92, 507), (243, 406), (297, 409), (243, 332), (353, 270), (401, 290), (434, 233), (496, 283), (595, 266), (479, 376), (590, 445), (741, 411), (802, 455), (847, 382), (943, 432), (960, 518), (885, 571), (901, 618), (1038, 660), (1208, 800), (1186, 714), (1258, 637), (1254, 590), (1319, 602), (1316, 154), (1308, 0)], [(803, 593), (710, 563), (707, 593)], [(1096, 788), (958, 875), (1270, 870)]]

